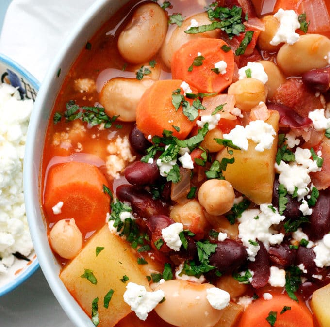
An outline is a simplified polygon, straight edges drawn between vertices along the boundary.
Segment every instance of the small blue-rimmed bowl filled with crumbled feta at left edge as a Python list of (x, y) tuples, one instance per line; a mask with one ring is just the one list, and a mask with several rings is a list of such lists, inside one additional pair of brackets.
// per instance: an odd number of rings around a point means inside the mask
[(39, 83), (0, 54), (0, 296), (39, 267), (25, 214), (24, 151)]

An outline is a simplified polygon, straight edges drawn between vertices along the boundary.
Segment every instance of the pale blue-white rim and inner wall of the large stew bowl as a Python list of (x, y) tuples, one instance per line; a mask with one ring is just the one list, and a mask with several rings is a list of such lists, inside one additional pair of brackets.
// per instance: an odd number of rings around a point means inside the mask
[(50, 111), (67, 72), (87, 41), (126, 2), (128, 0), (97, 0), (82, 16), (43, 80), (29, 124), (24, 161), (24, 192), (33, 245), (50, 288), (68, 317), (79, 327), (94, 325), (60, 280), (60, 265), (49, 247), (45, 220), (40, 210), (42, 151)]

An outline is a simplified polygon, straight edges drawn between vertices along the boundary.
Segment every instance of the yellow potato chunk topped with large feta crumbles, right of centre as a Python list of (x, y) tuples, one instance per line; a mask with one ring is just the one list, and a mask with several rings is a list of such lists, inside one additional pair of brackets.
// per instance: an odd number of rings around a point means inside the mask
[[(274, 130), (279, 130), (279, 113), (270, 110), (270, 117), (265, 121), (272, 125)], [(233, 150), (233, 155), (223, 149), (219, 152), (217, 160), (221, 162), (222, 158), (235, 158), (233, 164), (227, 165), (223, 172), (226, 180), (231, 185), (245, 194), (256, 204), (271, 203), (273, 195), (273, 184), (275, 178), (275, 156), (277, 152), (277, 136), (270, 149), (263, 152), (255, 150), (255, 143), (249, 140), (247, 151)]]

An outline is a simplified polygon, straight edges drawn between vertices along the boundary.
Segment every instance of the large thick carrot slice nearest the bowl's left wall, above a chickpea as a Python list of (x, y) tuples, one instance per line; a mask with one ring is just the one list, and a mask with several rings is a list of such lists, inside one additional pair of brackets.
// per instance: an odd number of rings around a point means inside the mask
[[(50, 168), (44, 193), (49, 222), (74, 218), (83, 235), (101, 228), (110, 205), (103, 185), (108, 185), (105, 176), (88, 163), (71, 161)], [(61, 212), (54, 214), (52, 207), (60, 201)]]

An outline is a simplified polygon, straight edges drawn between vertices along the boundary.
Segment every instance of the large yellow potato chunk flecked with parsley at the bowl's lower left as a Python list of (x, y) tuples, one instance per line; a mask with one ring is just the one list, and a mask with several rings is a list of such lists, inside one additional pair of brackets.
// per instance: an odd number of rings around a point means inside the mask
[[(98, 256), (95, 253), (97, 247), (104, 247)], [(129, 281), (143, 285), (147, 291), (150, 291), (148, 280), (130, 249), (129, 243), (111, 234), (108, 225), (105, 225), (60, 274), (68, 291), (89, 316), (91, 316), (93, 300), (99, 297), (100, 327), (114, 326), (131, 312), (131, 308), (123, 300), (126, 284), (120, 279), (124, 275), (128, 276)], [(97, 279), (96, 285), (86, 278), (81, 278), (85, 269), (93, 271)], [(110, 289), (115, 292), (109, 308), (106, 309), (103, 306), (103, 299)]]

